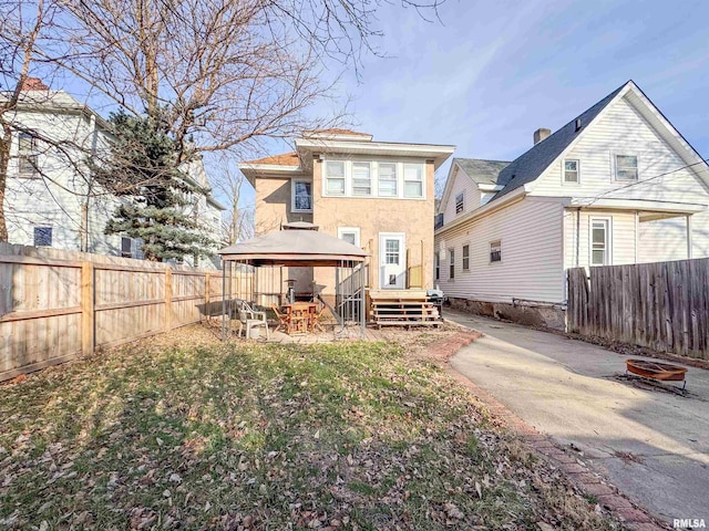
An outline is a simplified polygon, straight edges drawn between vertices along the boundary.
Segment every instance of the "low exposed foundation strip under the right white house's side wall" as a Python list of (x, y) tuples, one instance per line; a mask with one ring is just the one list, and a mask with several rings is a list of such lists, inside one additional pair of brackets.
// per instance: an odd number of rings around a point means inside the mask
[(521, 305), (460, 298), (449, 298), (449, 302), (451, 308), (475, 315), (512, 321), (527, 326), (542, 326), (561, 331), (566, 329), (566, 312), (556, 305)]

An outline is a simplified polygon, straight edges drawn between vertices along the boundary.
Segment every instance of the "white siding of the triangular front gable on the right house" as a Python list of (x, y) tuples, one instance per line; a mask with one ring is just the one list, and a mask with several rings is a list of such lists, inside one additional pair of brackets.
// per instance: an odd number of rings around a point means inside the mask
[[(637, 157), (638, 184), (616, 179), (616, 155)], [(579, 184), (573, 186), (574, 197), (593, 199), (603, 194), (604, 199), (709, 202), (709, 190), (697, 180), (690, 168), (685, 168), (687, 163), (625, 97), (592, 123), (564, 158), (579, 160), (583, 175)], [(562, 170), (563, 164), (551, 165), (531, 185), (531, 195), (568, 196), (569, 188), (563, 184)], [(643, 183), (644, 179), (670, 171), (669, 175)], [(613, 191), (615, 189), (618, 191)]]

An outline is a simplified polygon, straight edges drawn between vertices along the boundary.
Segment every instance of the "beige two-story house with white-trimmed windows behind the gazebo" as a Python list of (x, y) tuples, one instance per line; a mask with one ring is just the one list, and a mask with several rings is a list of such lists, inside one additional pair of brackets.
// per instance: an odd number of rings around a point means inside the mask
[[(256, 190), (256, 235), (308, 221), (369, 253), (370, 290), (432, 288), (434, 171), (454, 146), (374, 142), (348, 129), (315, 132), (295, 145), (239, 165)], [(332, 293), (331, 269), (285, 274), (296, 293)]]

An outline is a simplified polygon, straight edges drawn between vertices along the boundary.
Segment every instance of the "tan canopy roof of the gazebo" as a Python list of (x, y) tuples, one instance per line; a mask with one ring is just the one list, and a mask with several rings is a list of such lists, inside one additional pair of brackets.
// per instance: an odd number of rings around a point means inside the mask
[(362, 262), (368, 257), (357, 246), (305, 227), (251, 238), (218, 253), (223, 260), (251, 266), (340, 267), (343, 262)]

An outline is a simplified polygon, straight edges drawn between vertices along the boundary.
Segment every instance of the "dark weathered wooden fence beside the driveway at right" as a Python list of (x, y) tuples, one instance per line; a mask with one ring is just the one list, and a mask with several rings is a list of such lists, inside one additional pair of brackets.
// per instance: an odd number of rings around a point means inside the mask
[(709, 360), (709, 259), (568, 270), (569, 332)]

